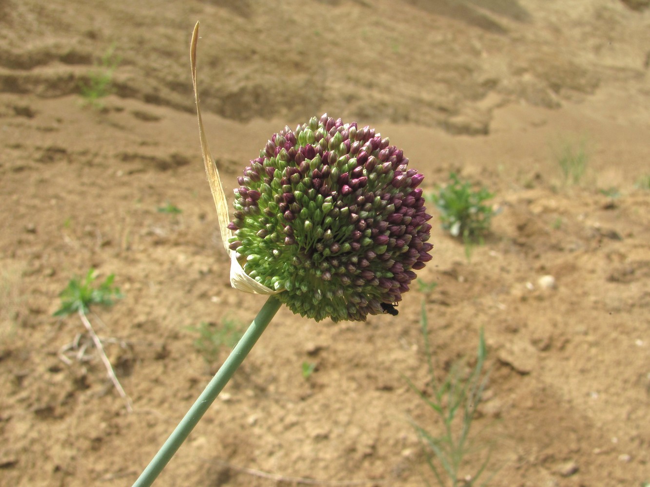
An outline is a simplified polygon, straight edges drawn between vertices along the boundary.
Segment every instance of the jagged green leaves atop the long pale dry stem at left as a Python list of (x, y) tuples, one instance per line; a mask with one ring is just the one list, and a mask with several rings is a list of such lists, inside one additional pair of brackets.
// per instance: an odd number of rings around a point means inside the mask
[(115, 299), (122, 298), (119, 288), (113, 286), (115, 275), (111, 274), (97, 288), (93, 287), (96, 279), (95, 269), (90, 269), (85, 279), (74, 278), (68, 282), (61, 293), (61, 307), (54, 316), (88, 313), (91, 305), (111, 306)]

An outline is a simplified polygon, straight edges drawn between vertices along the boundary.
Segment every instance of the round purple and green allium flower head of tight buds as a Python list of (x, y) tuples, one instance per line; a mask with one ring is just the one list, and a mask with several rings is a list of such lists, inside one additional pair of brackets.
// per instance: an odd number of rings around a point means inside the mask
[(235, 189), (229, 247), (302, 316), (365, 321), (431, 259), (423, 176), (369, 127), (323, 115), (274, 134)]

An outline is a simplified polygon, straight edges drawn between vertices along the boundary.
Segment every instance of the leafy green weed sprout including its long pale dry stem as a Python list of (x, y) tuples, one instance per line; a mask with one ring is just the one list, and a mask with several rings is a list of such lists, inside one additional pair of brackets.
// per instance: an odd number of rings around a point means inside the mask
[(87, 316), (90, 311), (90, 306), (112, 306), (115, 299), (121, 299), (123, 296), (120, 290), (113, 286), (113, 274), (109, 275), (98, 287), (93, 286), (95, 279), (96, 274), (94, 269), (90, 269), (83, 280), (78, 278), (71, 279), (68, 282), (68, 286), (59, 295), (61, 298), (61, 307), (54, 313), (54, 316), (63, 317), (74, 313), (79, 315), (81, 323), (86, 327), (90, 338), (99, 351), (99, 356), (109, 374), (110, 381), (126, 403), (127, 411), (132, 412), (133, 406), (131, 405), (131, 399), (126, 395), (120, 381), (118, 381), (110, 360), (101, 344), (101, 340), (94, 331), (92, 323), (90, 323)]

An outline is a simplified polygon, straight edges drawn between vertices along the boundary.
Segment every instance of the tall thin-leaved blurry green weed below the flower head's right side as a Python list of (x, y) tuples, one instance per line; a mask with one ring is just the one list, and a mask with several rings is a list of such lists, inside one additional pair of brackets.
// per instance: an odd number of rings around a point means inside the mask
[[(424, 353), (428, 363), (428, 371), (433, 392), (431, 395), (422, 393), (411, 381), (409, 386), (434, 412), (441, 423), (443, 432), (433, 434), (426, 428), (413, 421), (413, 427), (419, 436), (426, 462), (434, 474), (437, 484), (445, 486), (485, 486), (491, 479), (478, 483), (491, 458), (491, 445), (487, 445), (487, 453), (473, 475), (461, 478), (461, 469), (465, 467), (467, 458), (480, 452), (480, 447), (471, 438), (471, 425), (476, 416), (476, 408), (480, 405), (487, 384), (487, 373), (484, 373), (486, 360), (486, 344), (481, 330), (476, 352), (476, 364), (469, 374), (463, 374), (461, 364), (457, 363), (441, 383), (437, 383), (434, 375), (432, 353), (428, 340), (428, 324), (426, 310), (422, 304), (422, 336), (424, 337)], [(492, 474), (494, 475), (494, 474)]]

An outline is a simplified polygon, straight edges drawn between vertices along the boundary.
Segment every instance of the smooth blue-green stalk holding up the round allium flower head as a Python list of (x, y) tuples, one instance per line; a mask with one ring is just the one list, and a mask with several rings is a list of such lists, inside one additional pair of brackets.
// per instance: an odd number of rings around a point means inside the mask
[(235, 370), (244, 361), (244, 358), (251, 351), (257, 339), (265, 331), (268, 323), (275, 316), (276, 312), (278, 312), (281, 304), (273, 295), (268, 298), (265, 305), (262, 306), (262, 309), (259, 310), (257, 316), (253, 319), (253, 323), (251, 323), (246, 333), (244, 333), (244, 336), (242, 336), (239, 343), (235, 345), (233, 351), (226, 358), (226, 362), (217, 371), (210, 383), (207, 384), (205, 390), (203, 390), (194, 405), (185, 414), (185, 418), (181, 419), (174, 432), (170, 434), (167, 441), (164, 442), (164, 445), (156, 453), (156, 456), (153, 457), (153, 460), (144, 469), (140, 477), (138, 477), (138, 480), (135, 481), (133, 487), (148, 487), (153, 484), (153, 481), (155, 481), (162, 469), (172, 459), (174, 453), (176, 453), (177, 449), (179, 449), (192, 429), (194, 429), (196, 423), (199, 422), (214, 399), (216, 399), (216, 396), (226, 386), (233, 373), (235, 373)]

